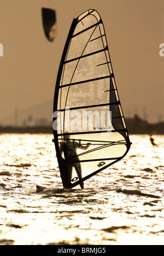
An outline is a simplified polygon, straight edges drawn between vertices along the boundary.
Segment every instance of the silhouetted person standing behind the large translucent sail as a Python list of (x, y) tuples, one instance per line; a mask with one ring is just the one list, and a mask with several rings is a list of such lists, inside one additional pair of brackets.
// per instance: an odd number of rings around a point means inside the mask
[[(82, 172), (81, 172), (81, 164), (80, 160), (77, 155), (77, 149), (83, 149), (86, 150), (89, 148), (91, 143), (87, 143), (86, 146), (82, 146), (80, 141), (79, 143), (76, 142), (74, 139), (70, 139), (69, 135), (65, 135), (65, 142), (60, 143), (60, 151), (61, 153), (63, 152), (65, 154), (66, 159), (72, 158), (73, 161), (79, 161), (79, 162), (69, 162), (68, 163), (68, 173), (69, 173), (69, 179), (72, 180), (72, 170), (73, 167), (75, 168), (75, 171), (77, 172), (78, 178), (82, 178)], [(76, 178), (76, 177), (75, 177)], [(73, 179), (75, 179), (73, 178)], [(75, 179), (76, 180), (76, 179)], [(80, 183), (81, 189), (84, 189), (84, 183)]]

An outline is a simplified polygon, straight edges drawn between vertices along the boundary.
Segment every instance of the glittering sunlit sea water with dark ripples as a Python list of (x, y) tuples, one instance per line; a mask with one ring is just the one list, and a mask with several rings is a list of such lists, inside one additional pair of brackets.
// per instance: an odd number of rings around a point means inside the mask
[(51, 134), (1, 134), (0, 245), (164, 245), (164, 136), (154, 139), (131, 135), (125, 158), (81, 190), (63, 189)]

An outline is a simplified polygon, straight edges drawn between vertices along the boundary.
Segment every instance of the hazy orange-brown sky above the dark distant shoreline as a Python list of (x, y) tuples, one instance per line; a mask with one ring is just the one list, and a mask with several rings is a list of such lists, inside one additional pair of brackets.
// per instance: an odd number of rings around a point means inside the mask
[[(53, 43), (44, 36), (43, 6), (56, 10)], [(51, 119), (67, 34), (73, 18), (87, 9), (96, 9), (103, 20), (125, 117), (138, 113), (149, 121), (164, 120), (164, 56), (159, 54), (164, 0), (0, 0), (0, 124), (14, 115), (15, 107), (32, 112), (45, 102), (43, 115)]]

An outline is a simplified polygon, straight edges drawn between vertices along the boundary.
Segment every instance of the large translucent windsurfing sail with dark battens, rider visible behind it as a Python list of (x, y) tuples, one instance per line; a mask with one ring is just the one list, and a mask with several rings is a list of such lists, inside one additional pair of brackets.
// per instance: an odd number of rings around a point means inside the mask
[(124, 158), (130, 139), (101, 17), (74, 19), (58, 69), (53, 132), (63, 187), (73, 188)]

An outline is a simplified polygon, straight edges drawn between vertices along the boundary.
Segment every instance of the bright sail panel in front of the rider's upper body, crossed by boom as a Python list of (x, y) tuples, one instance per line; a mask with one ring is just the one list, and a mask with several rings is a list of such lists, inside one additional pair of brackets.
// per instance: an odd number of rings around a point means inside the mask
[[(67, 143), (68, 147), (70, 145), (67, 155), (68, 162), (96, 161), (96, 159), (101, 161), (102, 159), (119, 158), (126, 151), (125, 140), (120, 133), (108, 133), (106, 136), (102, 135), (102, 133), (98, 133), (98, 135), (84, 133), (78, 136), (70, 135), (69, 139), (67, 136), (59, 136), (58, 142), (62, 158), (65, 158), (63, 154), (65, 143)], [(86, 150), (80, 148), (86, 147), (89, 142), (89, 148)]]

